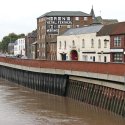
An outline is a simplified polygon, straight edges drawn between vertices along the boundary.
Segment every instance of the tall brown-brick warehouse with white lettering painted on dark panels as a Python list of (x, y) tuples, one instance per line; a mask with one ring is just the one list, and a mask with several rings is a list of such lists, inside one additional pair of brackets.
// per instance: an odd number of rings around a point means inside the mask
[(57, 59), (57, 36), (69, 28), (92, 24), (92, 16), (81, 11), (51, 11), (37, 18), (37, 57)]

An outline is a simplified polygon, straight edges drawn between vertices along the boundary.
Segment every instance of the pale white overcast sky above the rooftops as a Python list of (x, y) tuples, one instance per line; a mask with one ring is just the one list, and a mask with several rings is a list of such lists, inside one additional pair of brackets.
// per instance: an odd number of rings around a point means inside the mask
[(125, 21), (125, 0), (0, 0), (0, 40), (9, 33), (36, 29), (36, 18), (49, 11), (83, 11), (104, 19)]

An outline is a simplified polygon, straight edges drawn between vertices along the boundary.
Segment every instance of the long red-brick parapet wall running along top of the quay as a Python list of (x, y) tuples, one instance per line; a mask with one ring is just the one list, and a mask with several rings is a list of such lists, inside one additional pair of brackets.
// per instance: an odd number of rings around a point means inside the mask
[(64, 70), (84, 71), (93, 73), (104, 73), (124, 76), (124, 63), (98, 63), (98, 62), (78, 62), (78, 61), (47, 61), (30, 59), (13, 59), (0, 57), (0, 62), (17, 64), (37, 68), (55, 68)]

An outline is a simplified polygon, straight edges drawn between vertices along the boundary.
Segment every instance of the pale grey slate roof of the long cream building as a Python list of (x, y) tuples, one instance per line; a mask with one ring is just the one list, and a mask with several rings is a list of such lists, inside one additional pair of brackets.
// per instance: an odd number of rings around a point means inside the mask
[(103, 27), (103, 25), (90, 25), (90, 26), (84, 26), (82, 28), (69, 29), (63, 35), (78, 35), (78, 34), (96, 33), (102, 27)]

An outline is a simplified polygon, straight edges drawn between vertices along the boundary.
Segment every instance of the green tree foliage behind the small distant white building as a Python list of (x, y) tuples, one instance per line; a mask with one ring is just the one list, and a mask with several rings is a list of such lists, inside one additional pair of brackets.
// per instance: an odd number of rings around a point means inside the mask
[(11, 42), (15, 42), (19, 38), (24, 38), (25, 34), (15, 34), (10, 33), (8, 36), (4, 36), (2, 42), (0, 43), (0, 51), (6, 53), (8, 51), (8, 44)]

